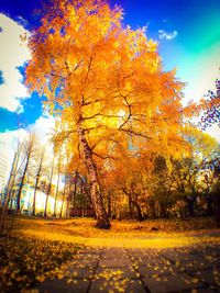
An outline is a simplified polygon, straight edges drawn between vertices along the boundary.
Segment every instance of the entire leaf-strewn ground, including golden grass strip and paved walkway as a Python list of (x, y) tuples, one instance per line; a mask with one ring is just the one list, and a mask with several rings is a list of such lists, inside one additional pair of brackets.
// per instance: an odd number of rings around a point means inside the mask
[(113, 221), (10, 217), (0, 238), (0, 292), (219, 292), (212, 218)]

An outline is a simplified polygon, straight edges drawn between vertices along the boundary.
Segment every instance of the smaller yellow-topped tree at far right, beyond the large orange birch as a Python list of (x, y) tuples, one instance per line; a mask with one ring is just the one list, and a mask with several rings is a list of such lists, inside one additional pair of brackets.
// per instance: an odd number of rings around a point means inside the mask
[(219, 145), (210, 135), (194, 127), (186, 127), (183, 135), (188, 150), (179, 158), (170, 158), (170, 180), (172, 188), (183, 195), (189, 214), (194, 216), (195, 203), (199, 194), (205, 194), (209, 201), (209, 189), (215, 179), (208, 176), (207, 171), (215, 169)]

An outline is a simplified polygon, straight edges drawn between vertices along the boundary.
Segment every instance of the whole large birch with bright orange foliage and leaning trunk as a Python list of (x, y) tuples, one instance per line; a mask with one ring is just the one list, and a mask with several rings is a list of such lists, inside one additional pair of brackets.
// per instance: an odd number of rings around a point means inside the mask
[(110, 222), (99, 160), (116, 158), (119, 142), (141, 148), (151, 139), (166, 147), (178, 139), (182, 124), (182, 83), (174, 71), (163, 71), (144, 30), (122, 26), (122, 14), (102, 0), (57, 0), (29, 42), (26, 84), (46, 95), (59, 117), (56, 139), (67, 140), (86, 166), (101, 228)]

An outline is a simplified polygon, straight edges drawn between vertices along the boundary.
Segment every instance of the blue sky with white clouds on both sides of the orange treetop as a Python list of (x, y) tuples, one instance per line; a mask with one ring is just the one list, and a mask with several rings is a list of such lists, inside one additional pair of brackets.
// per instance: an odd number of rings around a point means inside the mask
[[(29, 97), (22, 86), (29, 53), (21, 48), (19, 37), (14, 37), (15, 33), (37, 27), (41, 2), (0, 2), (0, 42), (3, 44), (3, 54), (0, 54), (0, 133), (13, 132), (22, 123), (34, 125), (41, 121), (42, 125), (46, 120), (41, 99), (36, 93)], [(208, 89), (215, 88), (215, 79), (220, 76), (219, 0), (111, 0), (110, 3), (124, 9), (124, 24), (132, 29), (147, 26), (148, 37), (158, 42), (165, 70), (175, 67), (177, 77), (187, 82), (186, 101), (198, 100)]]

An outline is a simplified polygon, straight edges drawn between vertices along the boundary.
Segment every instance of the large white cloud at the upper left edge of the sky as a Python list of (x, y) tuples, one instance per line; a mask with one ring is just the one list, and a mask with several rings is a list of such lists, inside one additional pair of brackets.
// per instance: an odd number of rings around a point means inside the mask
[(21, 112), (19, 99), (26, 99), (30, 94), (22, 83), (22, 75), (16, 67), (31, 58), (26, 43), (20, 38), (20, 35), (29, 35), (29, 32), (2, 13), (0, 13), (0, 70), (4, 81), (0, 84), (0, 106), (9, 111)]

